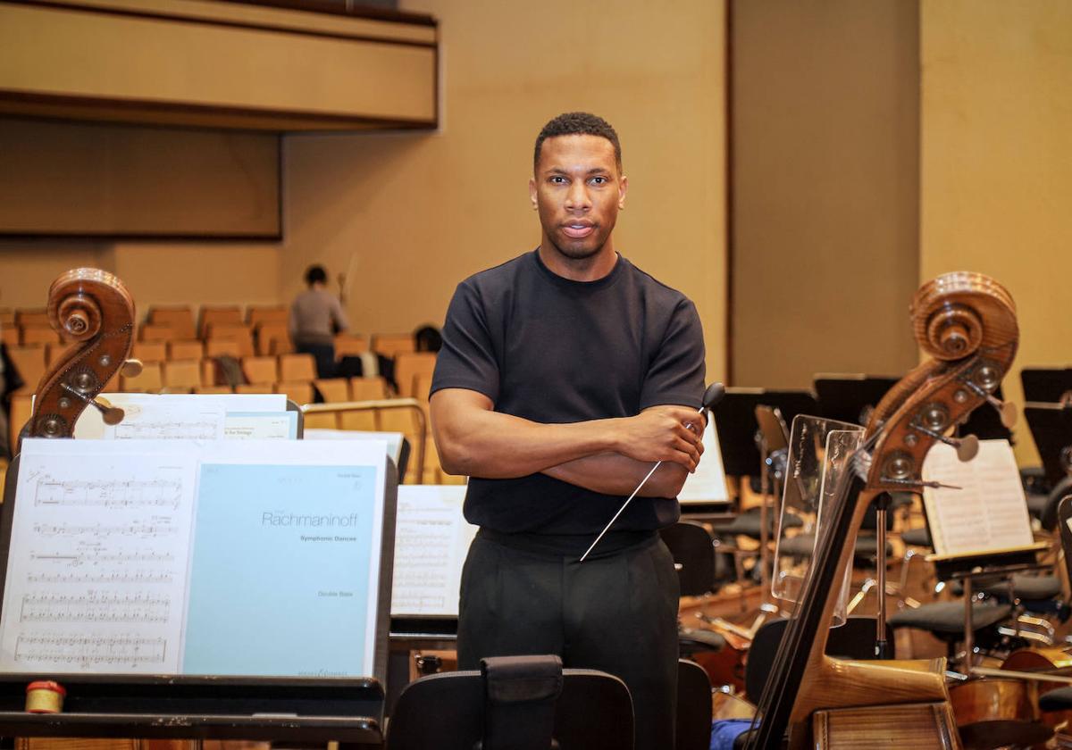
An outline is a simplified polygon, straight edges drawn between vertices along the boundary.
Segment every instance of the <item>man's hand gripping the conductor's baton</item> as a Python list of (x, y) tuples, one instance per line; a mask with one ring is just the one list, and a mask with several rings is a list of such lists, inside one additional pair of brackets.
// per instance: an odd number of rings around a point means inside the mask
[[(694, 471), (703, 454), (706, 418), (687, 406), (653, 406), (619, 420), (616, 452), (636, 461), (669, 461)], [(686, 425), (691, 425), (691, 429)]]

